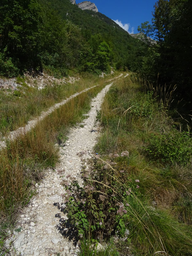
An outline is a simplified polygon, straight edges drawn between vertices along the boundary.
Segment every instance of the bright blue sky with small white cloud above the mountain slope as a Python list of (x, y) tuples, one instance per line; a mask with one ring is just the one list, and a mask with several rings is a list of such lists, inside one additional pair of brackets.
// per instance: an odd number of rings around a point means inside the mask
[[(83, 0), (76, 0), (81, 3)], [(129, 33), (138, 33), (137, 27), (142, 22), (151, 21), (154, 4), (157, 0), (90, 0), (95, 3), (99, 12), (115, 20)], [(118, 20), (118, 21), (117, 21)]]

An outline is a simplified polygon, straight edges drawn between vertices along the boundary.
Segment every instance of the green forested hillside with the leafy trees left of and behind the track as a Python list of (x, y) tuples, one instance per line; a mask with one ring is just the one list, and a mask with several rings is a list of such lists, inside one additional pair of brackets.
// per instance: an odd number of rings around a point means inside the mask
[(0, 75), (30, 68), (66, 76), (128, 68), (137, 71), (145, 48), (113, 20), (82, 11), (69, 0), (3, 0), (0, 7)]

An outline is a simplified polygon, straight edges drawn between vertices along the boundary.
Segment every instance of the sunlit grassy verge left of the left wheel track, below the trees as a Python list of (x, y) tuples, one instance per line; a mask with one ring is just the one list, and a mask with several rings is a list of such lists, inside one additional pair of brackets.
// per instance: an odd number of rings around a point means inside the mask
[(23, 78), (18, 77), (17, 83), (22, 85), (18, 91), (0, 90), (0, 136), (24, 126), (28, 120), (39, 116), (41, 111), (46, 111), (70, 95), (105, 80), (98, 76), (84, 75), (74, 84), (47, 84), (38, 90), (37, 86), (29, 87)]

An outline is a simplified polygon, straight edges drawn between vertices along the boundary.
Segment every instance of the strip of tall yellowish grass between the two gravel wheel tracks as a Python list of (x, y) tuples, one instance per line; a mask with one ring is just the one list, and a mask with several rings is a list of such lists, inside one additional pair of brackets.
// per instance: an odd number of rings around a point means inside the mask
[[(36, 184), (47, 167), (58, 161), (55, 143), (65, 139), (68, 127), (80, 122), (90, 109), (90, 100), (106, 83), (84, 92), (56, 109), (40, 121), (35, 128), (17, 140), (7, 141), (0, 152), (0, 233), (12, 227), (20, 208), (26, 205), (34, 193)], [(3, 241), (3, 240), (2, 240)], [(0, 242), (1, 243), (1, 242)]]

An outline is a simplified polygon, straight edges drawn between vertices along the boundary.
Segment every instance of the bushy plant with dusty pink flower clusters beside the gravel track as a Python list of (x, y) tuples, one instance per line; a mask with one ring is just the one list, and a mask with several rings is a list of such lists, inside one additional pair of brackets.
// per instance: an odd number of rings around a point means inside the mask
[(91, 170), (82, 174), (84, 187), (77, 181), (65, 185), (68, 221), (79, 236), (86, 237), (89, 231), (93, 239), (100, 241), (113, 235), (124, 236), (130, 221), (132, 200), (140, 191), (139, 182), (130, 179), (122, 163), (108, 162), (93, 160)]

